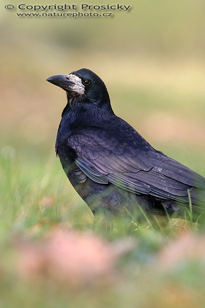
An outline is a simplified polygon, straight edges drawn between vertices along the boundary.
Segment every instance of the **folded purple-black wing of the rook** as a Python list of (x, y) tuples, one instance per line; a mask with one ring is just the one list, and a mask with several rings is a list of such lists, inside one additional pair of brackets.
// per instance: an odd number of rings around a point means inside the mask
[(69, 145), (76, 165), (91, 180), (113, 183), (136, 194), (189, 202), (188, 189), (205, 188), (205, 179), (154, 150), (131, 126), (118, 131), (91, 127), (76, 132)]

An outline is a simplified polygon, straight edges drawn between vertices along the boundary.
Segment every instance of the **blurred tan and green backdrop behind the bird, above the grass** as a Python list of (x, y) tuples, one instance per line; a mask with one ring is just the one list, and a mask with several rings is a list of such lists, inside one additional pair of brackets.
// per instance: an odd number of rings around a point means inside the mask
[(66, 97), (45, 80), (86, 67), (105, 81), (116, 114), (155, 147), (204, 172), (203, 1), (130, 1), (132, 10), (113, 18), (75, 19), (17, 17), (4, 4), (1, 146), (14, 147), (24, 161), (54, 157)]

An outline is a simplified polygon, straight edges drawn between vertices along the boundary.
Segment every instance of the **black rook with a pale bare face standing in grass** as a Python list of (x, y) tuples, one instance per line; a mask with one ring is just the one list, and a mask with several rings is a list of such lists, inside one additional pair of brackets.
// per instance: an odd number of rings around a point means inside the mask
[[(91, 70), (54, 75), (67, 93), (56, 153), (71, 184), (91, 208), (118, 214), (140, 206), (147, 213), (203, 213), (205, 178), (155, 150), (111, 107), (104, 82)], [(204, 196), (205, 197), (205, 196)]]

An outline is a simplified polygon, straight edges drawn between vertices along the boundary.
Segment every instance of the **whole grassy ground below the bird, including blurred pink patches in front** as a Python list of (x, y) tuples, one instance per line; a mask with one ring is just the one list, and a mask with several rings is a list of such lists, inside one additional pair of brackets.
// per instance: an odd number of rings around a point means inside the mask
[(0, 165), (2, 307), (204, 306), (203, 225), (128, 217), (110, 228), (53, 156), (25, 163), (7, 146)]

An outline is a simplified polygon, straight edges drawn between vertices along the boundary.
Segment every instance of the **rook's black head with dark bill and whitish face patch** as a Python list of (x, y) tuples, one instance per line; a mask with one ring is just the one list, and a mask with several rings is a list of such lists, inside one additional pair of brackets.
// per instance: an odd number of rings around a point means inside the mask
[(104, 82), (89, 69), (82, 68), (68, 75), (53, 75), (47, 81), (65, 90), (68, 100), (76, 98), (82, 103), (87, 102), (97, 106), (110, 104)]

